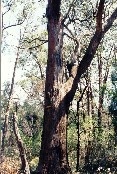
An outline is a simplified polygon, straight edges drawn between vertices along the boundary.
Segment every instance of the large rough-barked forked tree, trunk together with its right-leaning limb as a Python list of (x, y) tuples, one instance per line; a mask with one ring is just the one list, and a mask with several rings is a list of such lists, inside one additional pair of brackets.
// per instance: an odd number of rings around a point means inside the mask
[(117, 18), (117, 8), (102, 27), (105, 0), (100, 0), (96, 31), (79, 66), (74, 65), (67, 82), (62, 82), (63, 26), (61, 0), (48, 0), (48, 60), (45, 83), (44, 123), (38, 174), (71, 173), (67, 156), (67, 114), (80, 77), (86, 72), (104, 34)]

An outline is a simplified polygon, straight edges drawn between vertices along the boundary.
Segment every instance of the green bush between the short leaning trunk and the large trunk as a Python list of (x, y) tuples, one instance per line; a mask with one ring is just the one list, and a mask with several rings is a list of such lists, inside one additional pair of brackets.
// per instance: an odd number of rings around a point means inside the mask
[[(28, 157), (32, 159), (38, 156), (41, 146), (43, 110), (36, 109), (35, 104), (30, 104), (27, 101), (24, 102), (22, 108), (24, 115), (19, 117), (19, 128)], [(32, 116), (36, 116), (36, 120), (31, 120)]]

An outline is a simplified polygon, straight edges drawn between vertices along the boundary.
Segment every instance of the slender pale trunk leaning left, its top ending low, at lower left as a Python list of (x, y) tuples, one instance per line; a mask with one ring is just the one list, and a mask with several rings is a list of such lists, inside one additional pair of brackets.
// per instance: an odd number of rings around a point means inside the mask
[(26, 152), (25, 152), (25, 148), (23, 146), (23, 141), (22, 138), (20, 136), (19, 133), (19, 128), (17, 125), (17, 114), (16, 112), (13, 113), (13, 131), (16, 137), (16, 142), (17, 142), (17, 146), (19, 149), (19, 153), (20, 153), (20, 159), (21, 159), (21, 173), (23, 174), (30, 174), (30, 169), (29, 169), (29, 164), (28, 161), (26, 159)]

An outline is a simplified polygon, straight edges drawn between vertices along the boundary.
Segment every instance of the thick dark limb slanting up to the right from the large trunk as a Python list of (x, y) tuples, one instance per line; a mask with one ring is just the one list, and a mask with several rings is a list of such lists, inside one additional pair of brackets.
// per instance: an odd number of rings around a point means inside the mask
[[(100, 41), (104, 37), (105, 33), (111, 28), (111, 26), (116, 18), (117, 18), (117, 8), (112, 13), (110, 18), (107, 20), (107, 25), (104, 27), (104, 30), (97, 29), (95, 31), (95, 34), (92, 37), (92, 39), (89, 43), (89, 46), (86, 50), (86, 53), (85, 53), (83, 59), (81, 60), (79, 66), (78, 67), (74, 66), (72, 77), (70, 77), (68, 79), (68, 81), (65, 84), (63, 84), (63, 86), (65, 86), (65, 88), (66, 88), (66, 91), (67, 91), (66, 97), (69, 101), (72, 101), (72, 99), (75, 95), (75, 92), (77, 90), (77, 86), (78, 86), (77, 84), (80, 80), (81, 75), (84, 74), (86, 72), (87, 68), (90, 66), (91, 61), (93, 60), (96, 50), (100, 44)], [(71, 84), (71, 86), (68, 84)]]

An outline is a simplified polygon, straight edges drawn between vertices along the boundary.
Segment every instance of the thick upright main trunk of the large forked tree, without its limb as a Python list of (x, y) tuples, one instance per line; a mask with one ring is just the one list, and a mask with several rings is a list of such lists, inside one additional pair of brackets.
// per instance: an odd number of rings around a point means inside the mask
[(38, 173), (70, 171), (67, 157), (67, 105), (62, 87), (63, 26), (60, 1), (48, 1), (48, 62), (45, 84), (44, 124)]

